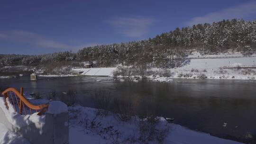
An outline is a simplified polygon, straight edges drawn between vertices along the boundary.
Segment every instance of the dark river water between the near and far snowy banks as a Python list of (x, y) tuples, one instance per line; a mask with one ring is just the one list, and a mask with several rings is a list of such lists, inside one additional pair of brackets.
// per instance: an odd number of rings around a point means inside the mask
[(175, 124), (193, 130), (256, 143), (256, 81), (174, 79), (162, 83), (146, 79), (139, 82), (113, 79), (39, 77), (35, 82), (25, 76), (0, 79), (0, 85), (22, 86), (27, 93), (42, 94), (73, 89), (77, 92), (77, 102), (85, 107), (93, 107), (91, 96), (95, 90), (107, 90), (113, 98), (131, 101), (137, 112), (152, 111), (158, 116), (175, 118)]

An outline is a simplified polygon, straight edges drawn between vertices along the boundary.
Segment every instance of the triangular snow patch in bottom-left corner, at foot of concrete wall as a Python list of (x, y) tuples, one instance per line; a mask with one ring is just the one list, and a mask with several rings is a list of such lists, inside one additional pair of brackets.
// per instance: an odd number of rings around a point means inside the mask
[(30, 144), (25, 138), (0, 123), (0, 144)]

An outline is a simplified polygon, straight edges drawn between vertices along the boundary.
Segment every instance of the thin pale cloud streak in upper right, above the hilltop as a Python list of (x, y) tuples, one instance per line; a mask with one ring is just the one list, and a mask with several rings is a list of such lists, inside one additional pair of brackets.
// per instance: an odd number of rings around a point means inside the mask
[(220, 11), (212, 12), (201, 17), (192, 18), (190, 21), (186, 22), (186, 25), (192, 26), (199, 23), (212, 23), (223, 19), (233, 19), (233, 18), (248, 18), (256, 16), (256, 1), (249, 1), (247, 3), (222, 9)]

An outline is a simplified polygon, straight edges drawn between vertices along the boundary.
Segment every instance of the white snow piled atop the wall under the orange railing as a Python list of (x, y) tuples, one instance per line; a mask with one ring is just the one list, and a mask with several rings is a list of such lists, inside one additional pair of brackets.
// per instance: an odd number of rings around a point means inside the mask
[(35, 124), (37, 127), (42, 127), (45, 124), (45, 116), (38, 116), (37, 113), (32, 115), (20, 115), (15, 111), (13, 106), (10, 104), (9, 99), (7, 99), (9, 109), (6, 108), (4, 103), (4, 98), (0, 97), (0, 108), (4, 112), (8, 121), (15, 127), (21, 128), (30, 124)]

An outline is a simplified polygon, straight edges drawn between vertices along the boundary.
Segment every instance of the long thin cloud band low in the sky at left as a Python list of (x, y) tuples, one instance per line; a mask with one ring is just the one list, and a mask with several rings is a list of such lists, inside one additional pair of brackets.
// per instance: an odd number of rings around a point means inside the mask
[[(23, 31), (23, 30), (9, 30), (0, 32), (0, 40), (10, 41), (13, 43), (26, 43), (35, 46), (35, 48), (54, 48), (61, 50), (74, 50), (82, 49), (84, 45), (66, 45), (64, 43), (50, 40), (44, 36), (36, 33)], [(85, 44), (95, 45), (95, 44)]]

